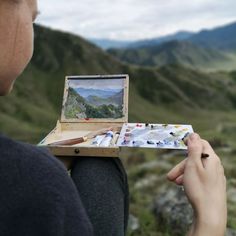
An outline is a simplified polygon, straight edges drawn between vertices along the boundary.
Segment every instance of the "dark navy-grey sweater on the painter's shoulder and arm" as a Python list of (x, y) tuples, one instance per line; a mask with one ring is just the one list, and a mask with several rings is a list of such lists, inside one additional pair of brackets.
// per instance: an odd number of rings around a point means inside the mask
[(0, 236), (91, 236), (63, 165), (47, 151), (0, 135)]

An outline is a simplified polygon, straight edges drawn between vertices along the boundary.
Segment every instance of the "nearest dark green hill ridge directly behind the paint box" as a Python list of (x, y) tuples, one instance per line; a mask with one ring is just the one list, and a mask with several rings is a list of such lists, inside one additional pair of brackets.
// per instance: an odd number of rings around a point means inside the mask
[(66, 75), (121, 73), (130, 75), (130, 121), (191, 122), (202, 130), (216, 110), (209, 126), (213, 130), (236, 107), (233, 73), (203, 73), (180, 65), (129, 66), (81, 37), (35, 26), (33, 59), (13, 92), (0, 99), (1, 131), (38, 142), (60, 119)]

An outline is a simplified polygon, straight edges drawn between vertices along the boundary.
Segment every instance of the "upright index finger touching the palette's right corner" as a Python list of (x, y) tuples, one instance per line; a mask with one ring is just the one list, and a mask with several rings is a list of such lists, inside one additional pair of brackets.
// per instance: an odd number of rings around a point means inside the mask
[(203, 144), (198, 134), (194, 133), (187, 139), (188, 146), (188, 163), (191, 166), (196, 166), (199, 169), (203, 169), (203, 163), (201, 155), (203, 152)]

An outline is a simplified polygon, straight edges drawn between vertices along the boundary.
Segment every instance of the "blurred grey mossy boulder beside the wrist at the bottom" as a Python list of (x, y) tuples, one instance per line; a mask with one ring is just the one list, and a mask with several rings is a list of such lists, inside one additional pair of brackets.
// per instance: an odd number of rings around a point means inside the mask
[(192, 224), (193, 210), (181, 188), (171, 187), (154, 201), (158, 224), (171, 235), (184, 235)]

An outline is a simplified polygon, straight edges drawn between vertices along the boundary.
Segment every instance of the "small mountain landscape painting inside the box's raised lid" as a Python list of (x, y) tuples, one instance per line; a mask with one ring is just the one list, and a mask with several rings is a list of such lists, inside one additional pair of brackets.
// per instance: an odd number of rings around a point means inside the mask
[(66, 119), (119, 119), (123, 114), (124, 79), (69, 79)]

